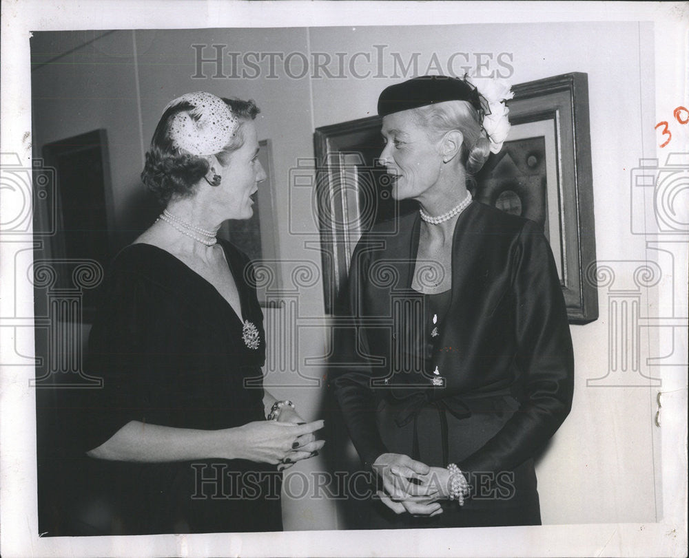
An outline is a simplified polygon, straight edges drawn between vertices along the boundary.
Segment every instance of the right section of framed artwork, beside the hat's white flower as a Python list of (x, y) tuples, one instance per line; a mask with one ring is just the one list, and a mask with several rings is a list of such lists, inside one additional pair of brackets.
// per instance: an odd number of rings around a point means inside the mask
[[(544, 228), (570, 323), (598, 318), (588, 76), (564, 74), (513, 87), (512, 129), (477, 176), (475, 200)], [(588, 270), (588, 271), (587, 271)]]

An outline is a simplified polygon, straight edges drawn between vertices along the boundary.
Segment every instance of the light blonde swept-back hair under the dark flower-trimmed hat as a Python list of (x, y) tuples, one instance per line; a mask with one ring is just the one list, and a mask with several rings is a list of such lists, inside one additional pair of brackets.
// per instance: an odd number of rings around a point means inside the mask
[(465, 100), (448, 100), (412, 109), (420, 125), (424, 126), (429, 137), (440, 139), (447, 132), (462, 132), (460, 161), (468, 178), (478, 173), (491, 154), (491, 142), (481, 126), (478, 111)]

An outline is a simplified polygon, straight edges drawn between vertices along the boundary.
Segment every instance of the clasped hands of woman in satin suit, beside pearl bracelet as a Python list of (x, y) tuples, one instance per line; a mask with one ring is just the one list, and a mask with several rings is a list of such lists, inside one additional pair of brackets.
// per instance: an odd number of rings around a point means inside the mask
[(433, 517), (442, 513), (438, 500), (449, 498), (450, 472), (400, 453), (383, 453), (373, 463), (382, 480), (380, 501), (393, 512)]

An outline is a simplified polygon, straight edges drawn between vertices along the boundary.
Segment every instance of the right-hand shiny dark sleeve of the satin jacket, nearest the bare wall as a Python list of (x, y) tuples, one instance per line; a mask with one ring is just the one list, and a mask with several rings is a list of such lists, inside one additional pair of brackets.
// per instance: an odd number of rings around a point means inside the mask
[(522, 229), (512, 265), (515, 364), (524, 398), (504, 427), (458, 464), (469, 473), (511, 470), (533, 457), (572, 405), (574, 357), (566, 307), (550, 247), (533, 222)]

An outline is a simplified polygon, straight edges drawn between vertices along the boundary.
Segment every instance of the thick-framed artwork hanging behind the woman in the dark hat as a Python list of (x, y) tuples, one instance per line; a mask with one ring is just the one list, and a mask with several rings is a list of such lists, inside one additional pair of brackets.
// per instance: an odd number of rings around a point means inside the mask
[[(586, 272), (596, 260), (588, 76), (562, 74), (512, 89), (515, 96), (507, 104), (513, 129), (506, 148), (491, 155), (470, 189), (477, 201), (525, 213), (544, 225), (569, 321), (589, 323), (598, 318), (598, 295), (597, 286), (587, 279), (595, 277), (595, 270)], [(342, 310), (351, 253), (362, 232), (381, 213), (387, 218), (410, 209), (389, 199), (384, 171), (376, 164), (382, 151), (380, 125), (381, 119), (371, 116), (320, 127), (314, 133), (328, 314)], [(505, 158), (514, 159), (514, 153), (522, 153), (528, 162), (534, 153), (541, 153), (543, 160), (536, 157), (533, 165), (539, 171), (524, 170), (529, 164), (522, 164), (521, 171), (505, 171), (510, 167)], [(535, 195), (526, 195), (529, 191)], [(536, 199), (540, 206), (532, 202)]]

